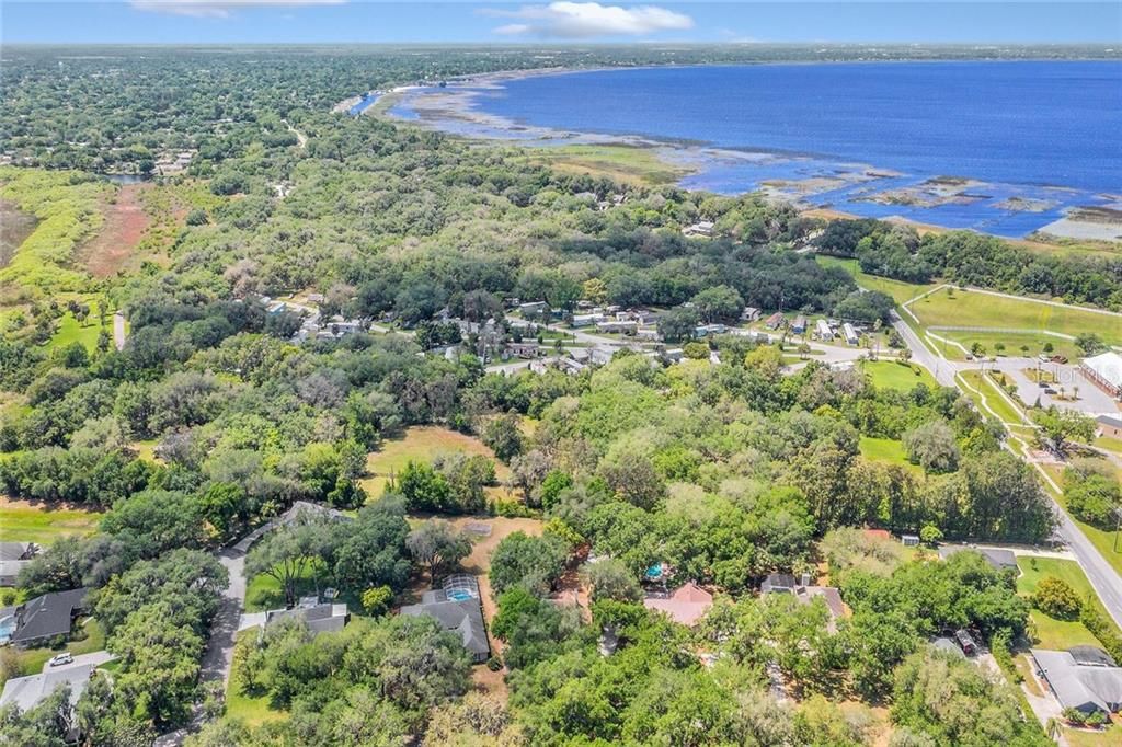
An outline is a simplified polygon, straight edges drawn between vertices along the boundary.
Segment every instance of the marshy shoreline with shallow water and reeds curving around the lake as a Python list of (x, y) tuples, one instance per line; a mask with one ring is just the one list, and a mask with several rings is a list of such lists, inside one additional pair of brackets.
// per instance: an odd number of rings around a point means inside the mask
[[(1055, 184), (1005, 184), (972, 179), (963, 175), (904, 174), (873, 164), (836, 158), (825, 154), (791, 153), (763, 148), (736, 148), (699, 140), (673, 140), (644, 133), (613, 133), (572, 130), (531, 125), (484, 110), (480, 99), (503, 90), (505, 83), (534, 77), (640, 70), (748, 67), (820, 64), (889, 63), (972, 63), (1038, 62), (1024, 59), (893, 59), (893, 61), (760, 61), (727, 64), (634, 65), (545, 67), (497, 71), (448, 79), (447, 87), (398, 86), (390, 91), (395, 100), (378, 112), (398, 123), (414, 125), (462, 137), (467, 140), (500, 142), (533, 148), (564, 146), (615, 146), (651, 150), (668, 167), (683, 172), (677, 185), (688, 191), (703, 191), (725, 196), (762, 193), (769, 200), (792, 204), (800, 211), (834, 211), (846, 215), (902, 220), (925, 229), (975, 230), (1006, 240), (1054, 239), (1057, 241), (1101, 245), (1110, 251), (1122, 242), (1122, 228), (1102, 221), (1080, 220), (1087, 208), (1113, 206), (1103, 201), (1106, 193)], [(1039, 61), (1047, 63), (1079, 61)], [(380, 102), (379, 102), (380, 103)], [(373, 109), (373, 108), (371, 108)], [(395, 111), (396, 110), (396, 111)], [(402, 116), (402, 110), (410, 116)], [(366, 113), (366, 112), (364, 112)], [(973, 190), (973, 192), (971, 192)], [(978, 192), (986, 192), (980, 194)], [(1042, 197), (1040, 193), (1051, 193)], [(1067, 193), (1067, 199), (1058, 199)], [(859, 204), (855, 204), (859, 203)], [(992, 209), (973, 220), (964, 210), (975, 203)], [(864, 205), (865, 210), (859, 208)], [(955, 220), (945, 223), (931, 212), (942, 206), (958, 210)], [(857, 210), (854, 210), (854, 209)], [(895, 209), (895, 210), (893, 210)], [(1045, 214), (1049, 213), (1050, 214)], [(914, 214), (907, 214), (914, 213)], [(1038, 224), (1029, 225), (1028, 215), (1040, 214)], [(1005, 232), (986, 230), (985, 224), (1004, 220)], [(1015, 229), (1014, 229), (1015, 227)], [(1047, 229), (1047, 230), (1046, 230)]]

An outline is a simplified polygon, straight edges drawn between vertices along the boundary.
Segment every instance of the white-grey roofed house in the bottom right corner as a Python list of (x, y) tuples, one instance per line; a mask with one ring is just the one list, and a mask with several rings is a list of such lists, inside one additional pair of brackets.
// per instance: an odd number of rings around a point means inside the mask
[(1077, 646), (1069, 651), (1033, 648), (1031, 654), (1038, 674), (1063, 708), (1084, 713), (1122, 710), (1122, 668), (1105, 652)]

